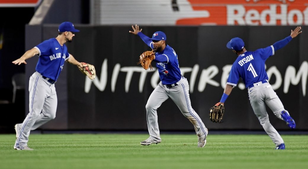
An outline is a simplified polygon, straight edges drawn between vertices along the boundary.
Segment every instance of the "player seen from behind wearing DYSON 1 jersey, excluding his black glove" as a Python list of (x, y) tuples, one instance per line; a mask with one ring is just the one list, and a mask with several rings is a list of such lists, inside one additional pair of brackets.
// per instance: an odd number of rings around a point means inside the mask
[(285, 110), (281, 100), (269, 83), (265, 71), (265, 61), (274, 55), (275, 51), (287, 45), (299, 33), (302, 33), (301, 27), (296, 27), (294, 31), (291, 30), (290, 36), (281, 41), (277, 41), (271, 46), (257, 49), (253, 52), (246, 50), (244, 41), (239, 37), (232, 38), (227, 43), (227, 48), (232, 49), (238, 57), (232, 65), (220, 102), (224, 105), (232, 88), (237, 85), (239, 77), (241, 77), (248, 89), (248, 96), (253, 112), (259, 119), (265, 132), (276, 144), (276, 149), (285, 149), (285, 144), (276, 129), (270, 124), (265, 104), (270, 107), (279, 119), (286, 121), (290, 128), (295, 128), (295, 121), (290, 117), (289, 112)]

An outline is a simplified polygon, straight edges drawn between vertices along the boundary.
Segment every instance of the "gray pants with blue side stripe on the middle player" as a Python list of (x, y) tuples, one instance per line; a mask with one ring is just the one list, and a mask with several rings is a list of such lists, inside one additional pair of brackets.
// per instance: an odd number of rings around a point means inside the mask
[(173, 88), (167, 88), (162, 82), (154, 89), (146, 105), (147, 123), (150, 137), (161, 141), (157, 120), (157, 108), (171, 98), (182, 114), (194, 125), (197, 136), (207, 135), (205, 125), (191, 106), (189, 98), (189, 85), (186, 78), (182, 77)]

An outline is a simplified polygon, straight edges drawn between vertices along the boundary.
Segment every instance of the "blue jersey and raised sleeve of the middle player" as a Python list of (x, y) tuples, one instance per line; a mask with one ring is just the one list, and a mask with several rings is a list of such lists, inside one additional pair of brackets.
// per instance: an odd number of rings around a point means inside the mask
[[(153, 49), (153, 42), (149, 37), (139, 32), (138, 35), (142, 40)], [(163, 85), (171, 85), (180, 81), (182, 75), (179, 67), (177, 54), (169, 45), (161, 52), (155, 53), (156, 67)]]

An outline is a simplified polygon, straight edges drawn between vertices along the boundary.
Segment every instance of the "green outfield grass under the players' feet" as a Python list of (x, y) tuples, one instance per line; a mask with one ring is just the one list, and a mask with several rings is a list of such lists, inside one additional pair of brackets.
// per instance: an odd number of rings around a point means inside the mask
[(192, 134), (32, 134), (29, 147), (13, 149), (15, 135), (0, 135), (0, 168), (308, 168), (308, 136), (282, 135), (286, 150), (274, 150), (267, 135), (210, 135), (204, 148)]

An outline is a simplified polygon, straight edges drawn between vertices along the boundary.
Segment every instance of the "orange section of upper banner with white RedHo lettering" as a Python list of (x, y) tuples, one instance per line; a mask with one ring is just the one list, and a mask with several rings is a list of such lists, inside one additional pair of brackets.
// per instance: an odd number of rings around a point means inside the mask
[(308, 25), (307, 0), (187, 0), (209, 17), (181, 18), (176, 25)]

